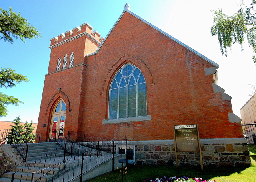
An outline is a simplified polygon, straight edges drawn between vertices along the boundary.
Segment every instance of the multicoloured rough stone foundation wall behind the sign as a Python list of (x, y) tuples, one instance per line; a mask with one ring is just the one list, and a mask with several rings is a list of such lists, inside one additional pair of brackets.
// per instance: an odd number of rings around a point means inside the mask
[[(247, 143), (231, 143), (228, 139), (224, 143), (214, 143), (208, 139), (207, 142), (201, 141), (201, 150), (204, 166), (250, 166), (250, 155)], [(228, 143), (229, 141), (229, 143)], [(235, 141), (235, 140), (234, 140)], [(246, 140), (244, 140), (246, 142)], [(236, 141), (235, 141), (236, 142)], [(137, 142), (135, 144), (135, 162), (147, 165), (176, 165), (174, 141), (165, 142)], [(169, 143), (169, 144), (167, 144)], [(132, 144), (132, 143), (129, 143)], [(180, 166), (200, 165), (200, 155), (194, 152), (178, 153)]]

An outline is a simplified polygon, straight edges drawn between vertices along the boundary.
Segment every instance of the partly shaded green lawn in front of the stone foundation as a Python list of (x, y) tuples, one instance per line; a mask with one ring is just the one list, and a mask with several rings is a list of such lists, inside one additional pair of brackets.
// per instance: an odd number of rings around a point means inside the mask
[[(128, 173), (124, 176), (124, 182), (143, 182), (150, 177), (188, 176), (201, 177), (204, 180), (216, 180), (216, 182), (256, 182), (256, 154), (251, 154), (252, 166), (249, 168), (205, 168), (204, 175), (200, 168), (180, 168), (176, 172), (175, 166), (134, 166), (128, 165)], [(121, 182), (122, 175), (116, 172), (103, 174), (88, 182)]]

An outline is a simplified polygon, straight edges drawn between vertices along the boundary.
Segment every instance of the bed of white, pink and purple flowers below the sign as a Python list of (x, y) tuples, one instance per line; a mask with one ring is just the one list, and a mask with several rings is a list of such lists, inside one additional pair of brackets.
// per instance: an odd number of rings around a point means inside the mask
[(203, 180), (202, 178), (189, 178), (186, 176), (182, 176), (182, 177), (170, 177), (167, 178), (166, 176), (162, 177), (162, 178), (149, 178), (147, 180), (144, 180), (143, 182), (216, 182), (211, 181), (211, 180)]

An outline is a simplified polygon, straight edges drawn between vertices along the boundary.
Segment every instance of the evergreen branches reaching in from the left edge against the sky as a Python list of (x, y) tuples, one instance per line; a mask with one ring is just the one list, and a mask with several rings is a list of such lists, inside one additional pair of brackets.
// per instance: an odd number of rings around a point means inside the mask
[[(16, 14), (12, 12), (10, 7), (9, 12), (0, 8), (0, 40), (13, 43), (13, 37), (15, 39), (20, 38), (25, 42), (26, 39), (33, 39), (42, 37), (41, 33), (36, 30), (35, 27), (29, 25), (27, 20), (20, 16), (20, 13)], [(26, 76), (18, 74), (15, 70), (10, 68), (1, 68), (0, 70), (0, 88), (12, 88), (16, 86), (14, 82), (28, 82)], [(7, 115), (7, 106), (9, 104), (18, 106), (19, 103), (23, 103), (18, 98), (8, 96), (0, 92), (0, 117)]]

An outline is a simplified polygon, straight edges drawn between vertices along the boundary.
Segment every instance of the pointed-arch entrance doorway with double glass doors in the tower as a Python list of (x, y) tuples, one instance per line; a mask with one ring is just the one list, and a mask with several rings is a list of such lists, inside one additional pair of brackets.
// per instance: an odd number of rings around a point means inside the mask
[(66, 104), (60, 99), (54, 106), (50, 130), (50, 140), (63, 138), (66, 119)]

